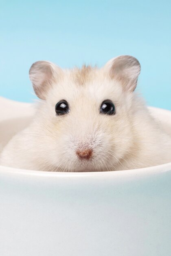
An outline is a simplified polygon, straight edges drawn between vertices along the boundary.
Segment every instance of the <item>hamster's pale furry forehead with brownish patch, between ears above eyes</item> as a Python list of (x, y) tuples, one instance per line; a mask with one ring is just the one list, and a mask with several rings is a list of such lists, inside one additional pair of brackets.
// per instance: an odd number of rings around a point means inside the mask
[(102, 69), (83, 66), (81, 69), (64, 70), (50, 89), (48, 101), (53, 104), (62, 99), (72, 102), (80, 98), (94, 102), (105, 99), (118, 101), (122, 93), (122, 86)]

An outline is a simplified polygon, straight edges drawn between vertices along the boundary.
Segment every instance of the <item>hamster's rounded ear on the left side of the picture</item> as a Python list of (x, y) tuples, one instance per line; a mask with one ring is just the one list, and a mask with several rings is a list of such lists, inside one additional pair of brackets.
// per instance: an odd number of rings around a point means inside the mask
[(37, 61), (29, 70), (29, 77), (35, 94), (40, 99), (46, 99), (46, 94), (59, 75), (60, 68), (49, 61)]

